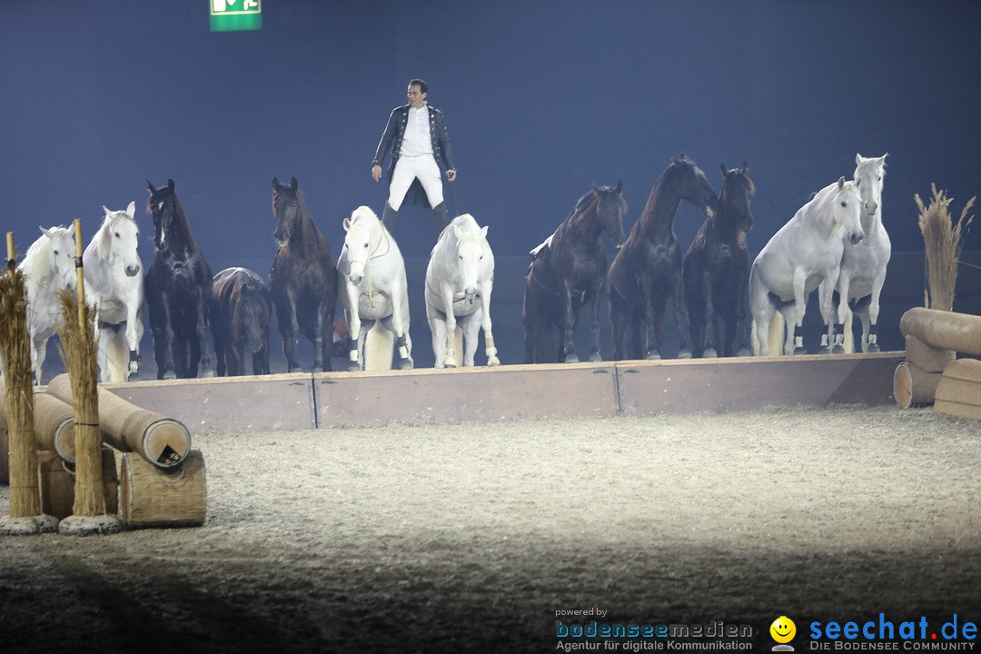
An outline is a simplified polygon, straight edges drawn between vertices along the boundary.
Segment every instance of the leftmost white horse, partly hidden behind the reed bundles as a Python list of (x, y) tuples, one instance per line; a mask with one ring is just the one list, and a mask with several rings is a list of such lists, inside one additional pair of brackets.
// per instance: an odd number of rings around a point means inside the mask
[(48, 352), (48, 340), (61, 320), (58, 292), (75, 291), (75, 231), (69, 227), (41, 227), (41, 236), (30, 244), (18, 269), (24, 274), (27, 290), (27, 330), (30, 333), (30, 361), (34, 383), (41, 383), (41, 372)]

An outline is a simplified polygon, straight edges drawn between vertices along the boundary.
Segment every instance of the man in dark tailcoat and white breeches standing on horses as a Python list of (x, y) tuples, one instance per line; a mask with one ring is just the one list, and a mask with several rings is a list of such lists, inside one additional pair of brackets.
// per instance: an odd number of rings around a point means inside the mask
[(456, 178), (453, 155), (442, 112), (426, 102), (429, 87), (422, 79), (409, 82), (409, 104), (395, 107), (388, 117), (385, 133), (372, 160), (371, 176), (382, 177), (382, 162), (391, 147), (388, 166), (388, 201), (382, 221), (391, 231), (402, 204), (410, 207), (433, 208), (439, 231), (449, 220), (442, 199), (442, 180), (439, 159), (446, 169), (446, 179)]

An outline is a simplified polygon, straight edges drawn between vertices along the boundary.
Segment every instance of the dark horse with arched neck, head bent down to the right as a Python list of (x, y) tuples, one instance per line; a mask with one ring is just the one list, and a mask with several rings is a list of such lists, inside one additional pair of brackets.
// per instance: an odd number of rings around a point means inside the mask
[(674, 217), (682, 200), (706, 216), (715, 211), (715, 191), (684, 153), (654, 182), (644, 212), (610, 266), (610, 321), (613, 358), (660, 359), (667, 298), (678, 325), (679, 358), (691, 356), (688, 316), (682, 297), (682, 250)]

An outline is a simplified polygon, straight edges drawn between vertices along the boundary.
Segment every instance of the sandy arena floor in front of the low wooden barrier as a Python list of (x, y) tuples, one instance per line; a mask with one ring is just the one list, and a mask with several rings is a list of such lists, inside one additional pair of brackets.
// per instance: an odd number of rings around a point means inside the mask
[(743, 642), (767, 652), (787, 615), (800, 652), (811, 621), (981, 622), (981, 426), (930, 410), (194, 446), (202, 528), (0, 538), (0, 651), (551, 652), (570, 641), (558, 612), (598, 609), (611, 624), (749, 625)]

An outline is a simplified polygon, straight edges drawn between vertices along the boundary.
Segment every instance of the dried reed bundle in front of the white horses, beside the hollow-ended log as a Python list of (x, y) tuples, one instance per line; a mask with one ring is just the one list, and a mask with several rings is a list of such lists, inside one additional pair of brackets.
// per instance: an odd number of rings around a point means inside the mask
[[(95, 310), (77, 306), (71, 291), (58, 295), (62, 320), (55, 326), (61, 336), (61, 354), (72, 381), (75, 407), (76, 516), (106, 513), (102, 485), (102, 430), (99, 428), (99, 382), (96, 374)], [(80, 314), (80, 316), (79, 316)]]

